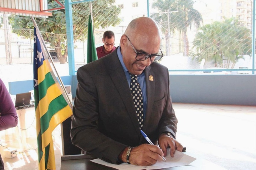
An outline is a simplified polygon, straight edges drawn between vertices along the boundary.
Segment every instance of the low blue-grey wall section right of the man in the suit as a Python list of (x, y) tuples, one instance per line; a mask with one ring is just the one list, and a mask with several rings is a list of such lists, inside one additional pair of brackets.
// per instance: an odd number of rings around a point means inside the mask
[(256, 75), (170, 75), (175, 103), (256, 106)]

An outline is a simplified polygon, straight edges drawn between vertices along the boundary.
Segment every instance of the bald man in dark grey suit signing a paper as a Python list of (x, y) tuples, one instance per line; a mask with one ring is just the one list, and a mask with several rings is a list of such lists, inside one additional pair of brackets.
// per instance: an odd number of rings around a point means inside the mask
[[(160, 33), (148, 17), (132, 20), (116, 50), (77, 70), (73, 108), (73, 144), (114, 164), (148, 166), (171, 156), (183, 146), (175, 139), (177, 118), (170, 98), (168, 69), (162, 58)], [(130, 91), (131, 76), (138, 75), (142, 91), (142, 125)], [(148, 135), (150, 145), (140, 133)], [(133, 148), (134, 147), (134, 148)]]

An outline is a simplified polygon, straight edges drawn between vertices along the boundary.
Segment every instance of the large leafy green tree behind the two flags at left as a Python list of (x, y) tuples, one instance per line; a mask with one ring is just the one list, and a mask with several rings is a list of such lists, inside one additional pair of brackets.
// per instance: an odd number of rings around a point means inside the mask
[[(64, 0), (59, 0), (64, 5)], [(114, 5), (115, 0), (97, 0), (92, 2), (94, 28), (105, 28), (107, 26), (115, 26), (120, 23), (118, 15), (120, 8)], [(48, 0), (48, 9), (59, 8), (60, 5), (53, 0)], [(49, 18), (35, 18), (38, 28), (44, 38), (44, 41), (55, 48), (57, 56), (61, 63), (66, 62), (67, 58), (67, 42), (66, 42), (66, 16), (65, 9), (49, 11), (53, 16)], [(88, 2), (76, 3), (72, 5), (73, 15), (73, 34), (74, 43), (84, 41), (88, 33), (88, 16), (90, 15), (90, 7)], [(10, 24), (14, 33), (30, 37), (23, 30), (24, 28), (33, 29), (33, 22), (30, 17), (11, 16)], [(32, 36), (33, 37), (33, 36)]]

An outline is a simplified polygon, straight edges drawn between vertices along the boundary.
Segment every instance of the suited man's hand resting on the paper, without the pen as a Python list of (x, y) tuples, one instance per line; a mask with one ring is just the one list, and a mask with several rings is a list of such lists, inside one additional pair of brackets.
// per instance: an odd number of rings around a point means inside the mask
[(181, 145), (181, 143), (179, 143), (176, 139), (166, 134), (161, 134), (159, 136), (158, 145), (164, 152), (164, 156), (167, 155), (167, 150), (166, 150), (167, 148), (170, 148), (171, 157), (174, 156), (175, 150), (182, 152), (182, 149), (183, 149), (183, 146)]

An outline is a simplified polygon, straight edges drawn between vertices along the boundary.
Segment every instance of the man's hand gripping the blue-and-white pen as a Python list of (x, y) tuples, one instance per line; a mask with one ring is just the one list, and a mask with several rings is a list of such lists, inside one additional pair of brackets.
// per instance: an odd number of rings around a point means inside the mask
[(163, 161), (163, 151), (156, 145), (142, 144), (131, 150), (129, 162), (133, 165), (150, 166)]

